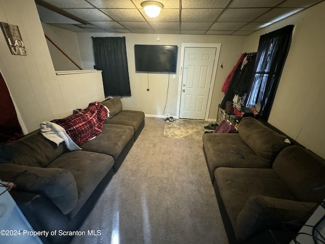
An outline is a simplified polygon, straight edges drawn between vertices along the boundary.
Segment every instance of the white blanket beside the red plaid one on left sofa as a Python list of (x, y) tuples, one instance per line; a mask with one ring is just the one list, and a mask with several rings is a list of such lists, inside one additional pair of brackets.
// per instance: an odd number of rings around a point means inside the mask
[(48, 140), (53, 141), (57, 146), (64, 141), (69, 150), (81, 150), (81, 148), (71, 140), (63, 127), (50, 121), (42, 122), (40, 127), (42, 135)]

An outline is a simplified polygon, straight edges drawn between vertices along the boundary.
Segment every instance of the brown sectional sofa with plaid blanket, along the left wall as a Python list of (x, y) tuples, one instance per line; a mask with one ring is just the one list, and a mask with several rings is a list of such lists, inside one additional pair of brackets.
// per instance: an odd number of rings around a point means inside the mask
[[(34, 230), (78, 230), (143, 129), (143, 112), (123, 110), (118, 97), (102, 103), (110, 116), (82, 150), (56, 146), (40, 130), (0, 146), (0, 179), (17, 185), (10, 193)], [(72, 237), (41, 239), (69, 243)]]

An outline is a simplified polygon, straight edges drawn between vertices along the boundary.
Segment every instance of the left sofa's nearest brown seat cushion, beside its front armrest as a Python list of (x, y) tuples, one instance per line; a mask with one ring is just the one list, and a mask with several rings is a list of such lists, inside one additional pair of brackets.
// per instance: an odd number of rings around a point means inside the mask
[(48, 168), (69, 170), (75, 178), (78, 201), (76, 207), (69, 214), (71, 219), (76, 216), (113, 164), (113, 158), (106, 154), (79, 150), (61, 155), (47, 166)]

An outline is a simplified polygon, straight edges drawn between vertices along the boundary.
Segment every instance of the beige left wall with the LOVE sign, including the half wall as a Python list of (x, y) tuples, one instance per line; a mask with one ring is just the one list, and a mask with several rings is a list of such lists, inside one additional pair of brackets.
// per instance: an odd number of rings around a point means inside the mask
[[(55, 74), (33, 0), (0, 0), (0, 21), (19, 26), (27, 51), (26, 56), (12, 55), (5, 37), (0, 34), (0, 71), (24, 133), (38, 129), (44, 120), (71, 114), (72, 108), (83, 108), (93, 100), (104, 99), (99, 72), (79, 76), (79, 79), (73, 78), (73, 74)], [(86, 80), (83, 80), (84, 77)], [(95, 83), (96, 89), (92, 88), (92, 83)], [(67, 87), (70, 87), (69, 91)], [(79, 93), (78, 87), (93, 94)]]

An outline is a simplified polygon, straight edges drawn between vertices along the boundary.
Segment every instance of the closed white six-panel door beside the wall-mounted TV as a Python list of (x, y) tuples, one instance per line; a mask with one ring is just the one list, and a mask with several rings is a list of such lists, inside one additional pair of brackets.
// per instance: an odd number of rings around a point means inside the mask
[(215, 54), (215, 47), (185, 47), (180, 118), (205, 118)]

